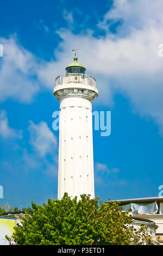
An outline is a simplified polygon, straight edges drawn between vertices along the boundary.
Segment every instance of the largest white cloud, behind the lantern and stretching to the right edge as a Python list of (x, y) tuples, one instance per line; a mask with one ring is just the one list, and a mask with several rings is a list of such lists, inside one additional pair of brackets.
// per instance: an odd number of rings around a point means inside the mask
[[(162, 1), (116, 0), (99, 27), (109, 31), (111, 23), (123, 20), (118, 33), (94, 37), (93, 32), (74, 35), (61, 29), (62, 39), (55, 51), (57, 62), (46, 63), (39, 78), (50, 88), (52, 78), (64, 73), (70, 50), (79, 48), (78, 59), (86, 73), (96, 78), (99, 97), (95, 103), (111, 105), (114, 93), (122, 93), (141, 117), (150, 117), (163, 136), (163, 57), (158, 46), (163, 42)], [(108, 25), (108, 20), (111, 23)], [(62, 71), (61, 71), (62, 70)]]

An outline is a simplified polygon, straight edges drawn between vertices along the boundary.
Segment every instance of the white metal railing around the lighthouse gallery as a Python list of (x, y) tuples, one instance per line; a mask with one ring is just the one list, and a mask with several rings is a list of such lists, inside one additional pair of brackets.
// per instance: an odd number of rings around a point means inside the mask
[(87, 86), (96, 87), (96, 79), (92, 76), (85, 74), (70, 73), (61, 76), (57, 76), (55, 79), (56, 86), (67, 83), (80, 83)]

